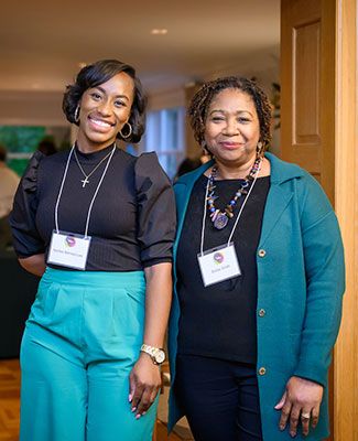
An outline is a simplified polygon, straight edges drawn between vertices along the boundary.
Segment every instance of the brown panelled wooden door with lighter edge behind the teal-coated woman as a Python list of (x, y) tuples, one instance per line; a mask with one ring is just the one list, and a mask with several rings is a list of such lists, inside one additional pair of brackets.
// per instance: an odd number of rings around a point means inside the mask
[(347, 289), (329, 376), (330, 440), (357, 441), (357, 0), (281, 0), (281, 157), (321, 182), (344, 238)]

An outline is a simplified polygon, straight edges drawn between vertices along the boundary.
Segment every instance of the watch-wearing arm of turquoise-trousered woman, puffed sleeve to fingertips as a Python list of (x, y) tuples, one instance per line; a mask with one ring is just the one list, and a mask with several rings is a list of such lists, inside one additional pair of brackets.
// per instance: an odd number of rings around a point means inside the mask
[[(172, 248), (175, 237), (175, 201), (171, 182), (155, 153), (144, 153), (134, 166), (138, 235), (145, 271), (143, 343), (163, 347), (172, 302)], [(152, 405), (161, 386), (160, 367), (141, 353), (130, 374), (129, 401), (135, 418)]]

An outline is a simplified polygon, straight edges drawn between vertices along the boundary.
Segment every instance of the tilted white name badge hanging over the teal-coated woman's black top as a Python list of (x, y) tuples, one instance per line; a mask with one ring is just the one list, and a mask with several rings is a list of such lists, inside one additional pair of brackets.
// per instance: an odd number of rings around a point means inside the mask
[(200, 267), (204, 287), (241, 275), (234, 244), (208, 249), (204, 255), (198, 254), (197, 260)]

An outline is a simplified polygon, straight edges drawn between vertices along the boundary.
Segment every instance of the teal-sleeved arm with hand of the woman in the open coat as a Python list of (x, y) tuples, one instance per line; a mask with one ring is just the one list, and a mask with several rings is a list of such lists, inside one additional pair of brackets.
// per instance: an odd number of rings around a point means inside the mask
[(280, 429), (283, 430), (289, 421), (291, 435), (296, 434), (300, 420), (303, 434), (308, 434), (310, 423), (312, 428), (317, 426), (345, 288), (339, 227), (326, 196), (315, 182), (308, 186), (302, 211), (302, 240), (307, 288), (301, 352), (294, 376), (275, 406), (281, 410)]

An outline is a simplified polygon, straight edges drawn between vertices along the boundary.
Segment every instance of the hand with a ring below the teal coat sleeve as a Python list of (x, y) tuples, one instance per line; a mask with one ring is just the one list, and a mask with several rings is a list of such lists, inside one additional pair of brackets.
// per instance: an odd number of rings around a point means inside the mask
[(290, 434), (295, 437), (301, 418), (302, 433), (310, 432), (310, 421), (314, 429), (318, 423), (323, 386), (301, 377), (291, 377), (281, 400), (275, 405), (281, 410), (280, 430), (284, 430), (290, 418)]

